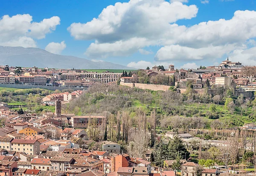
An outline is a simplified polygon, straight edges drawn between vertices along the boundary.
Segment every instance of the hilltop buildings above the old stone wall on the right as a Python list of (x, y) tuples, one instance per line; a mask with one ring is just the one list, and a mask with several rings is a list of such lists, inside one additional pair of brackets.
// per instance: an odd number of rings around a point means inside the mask
[[(193, 85), (193, 89), (201, 89), (203, 87), (229, 86), (239, 90), (239, 92), (256, 91), (256, 80), (254, 75), (245, 77), (243, 73), (244, 66), (240, 62), (231, 62), (227, 58), (218, 66), (207, 66), (203, 69), (175, 69), (174, 65), (169, 65), (168, 69), (161, 70), (158, 66), (152, 69), (141, 70), (151, 77), (158, 74), (173, 76), (175, 78), (175, 86), (186, 88), (188, 83)], [(207, 81), (208, 80), (208, 81)], [(124, 83), (138, 83), (137, 75), (131, 77), (122, 77)], [(206, 81), (208, 82), (206, 84)]]

